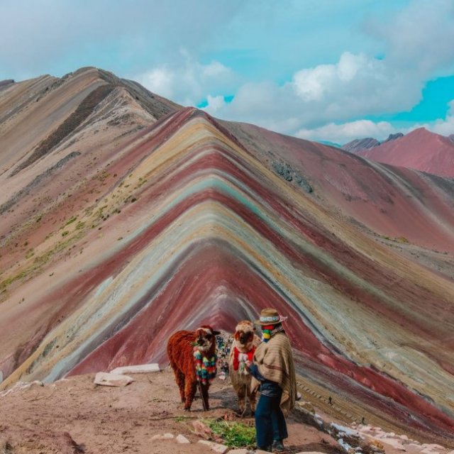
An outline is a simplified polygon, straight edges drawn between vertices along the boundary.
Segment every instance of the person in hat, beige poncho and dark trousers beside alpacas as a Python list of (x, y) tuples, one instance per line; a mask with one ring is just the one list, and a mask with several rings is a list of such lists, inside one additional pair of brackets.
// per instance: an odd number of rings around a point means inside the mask
[(246, 362), (252, 387), (260, 385), (260, 400), (255, 409), (255, 432), (258, 448), (284, 450), (288, 438), (285, 418), (294, 407), (296, 380), (289, 338), (282, 321), (287, 319), (275, 309), (262, 309), (258, 323), (262, 326), (262, 343), (255, 350), (253, 362)]

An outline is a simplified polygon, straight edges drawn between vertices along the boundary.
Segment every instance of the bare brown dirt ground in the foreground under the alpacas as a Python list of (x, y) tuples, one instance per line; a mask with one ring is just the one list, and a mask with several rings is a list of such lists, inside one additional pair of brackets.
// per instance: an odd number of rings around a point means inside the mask
[[(170, 370), (135, 374), (133, 378), (135, 381), (126, 387), (104, 387), (94, 384), (94, 375), (82, 375), (3, 392), (0, 394), (0, 453), (208, 454), (213, 452), (211, 448), (197, 443), (202, 438), (194, 433), (194, 421), (222, 417), (240, 421), (234, 414), (236, 397), (228, 379), (214, 380), (210, 411), (202, 411), (201, 401), (196, 399), (188, 414), (179, 403)], [(326, 416), (321, 414), (320, 418)], [(335, 438), (304, 423), (304, 419), (302, 411), (294, 411), (289, 418), (287, 453), (345, 453)], [(241, 421), (253, 425), (250, 416)], [(327, 423), (325, 420), (325, 426)], [(363, 433), (368, 431), (371, 437), (380, 437), (377, 445), (382, 443), (387, 454), (403, 450), (411, 454), (448, 454), (441, 447), (410, 445), (410, 441), (383, 434), (380, 429), (374, 431), (366, 426), (360, 429)], [(179, 444), (175, 438), (153, 439), (163, 433), (182, 434), (191, 443)], [(386, 436), (394, 447), (383, 443), (381, 437)]]

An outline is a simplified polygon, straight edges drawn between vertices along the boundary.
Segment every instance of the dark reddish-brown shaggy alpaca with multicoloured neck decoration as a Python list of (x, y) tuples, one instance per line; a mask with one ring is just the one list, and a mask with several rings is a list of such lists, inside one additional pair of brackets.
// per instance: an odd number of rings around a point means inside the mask
[[(167, 355), (175, 373), (179, 395), (186, 411), (191, 409), (198, 382), (194, 348), (197, 348), (201, 355), (206, 358), (215, 357), (217, 334), (219, 334), (218, 331), (214, 331), (211, 326), (204, 325), (197, 328), (195, 332), (177, 331), (177, 333), (170, 337), (167, 343)], [(216, 375), (216, 369), (214, 370), (214, 374)], [(208, 389), (210, 387), (210, 380), (206, 380), (206, 382), (200, 380), (199, 383), (204, 409), (209, 410)]]

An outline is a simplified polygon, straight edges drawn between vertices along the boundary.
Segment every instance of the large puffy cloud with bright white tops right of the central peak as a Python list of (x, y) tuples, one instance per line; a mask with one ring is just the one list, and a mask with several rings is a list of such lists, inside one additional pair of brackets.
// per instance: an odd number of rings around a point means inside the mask
[(282, 133), (348, 123), (350, 118), (411, 109), (421, 99), (423, 82), (411, 72), (396, 72), (387, 60), (344, 52), (338, 62), (303, 68), (292, 80), (243, 84), (222, 118), (258, 123)]

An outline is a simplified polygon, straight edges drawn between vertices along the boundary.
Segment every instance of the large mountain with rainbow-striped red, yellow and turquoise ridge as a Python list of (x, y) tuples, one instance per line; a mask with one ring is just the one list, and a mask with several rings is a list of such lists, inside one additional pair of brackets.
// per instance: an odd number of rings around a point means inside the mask
[(453, 441), (452, 180), (94, 68), (13, 84), (0, 116), (2, 387), (165, 362), (177, 329), (272, 305), (353, 419)]

